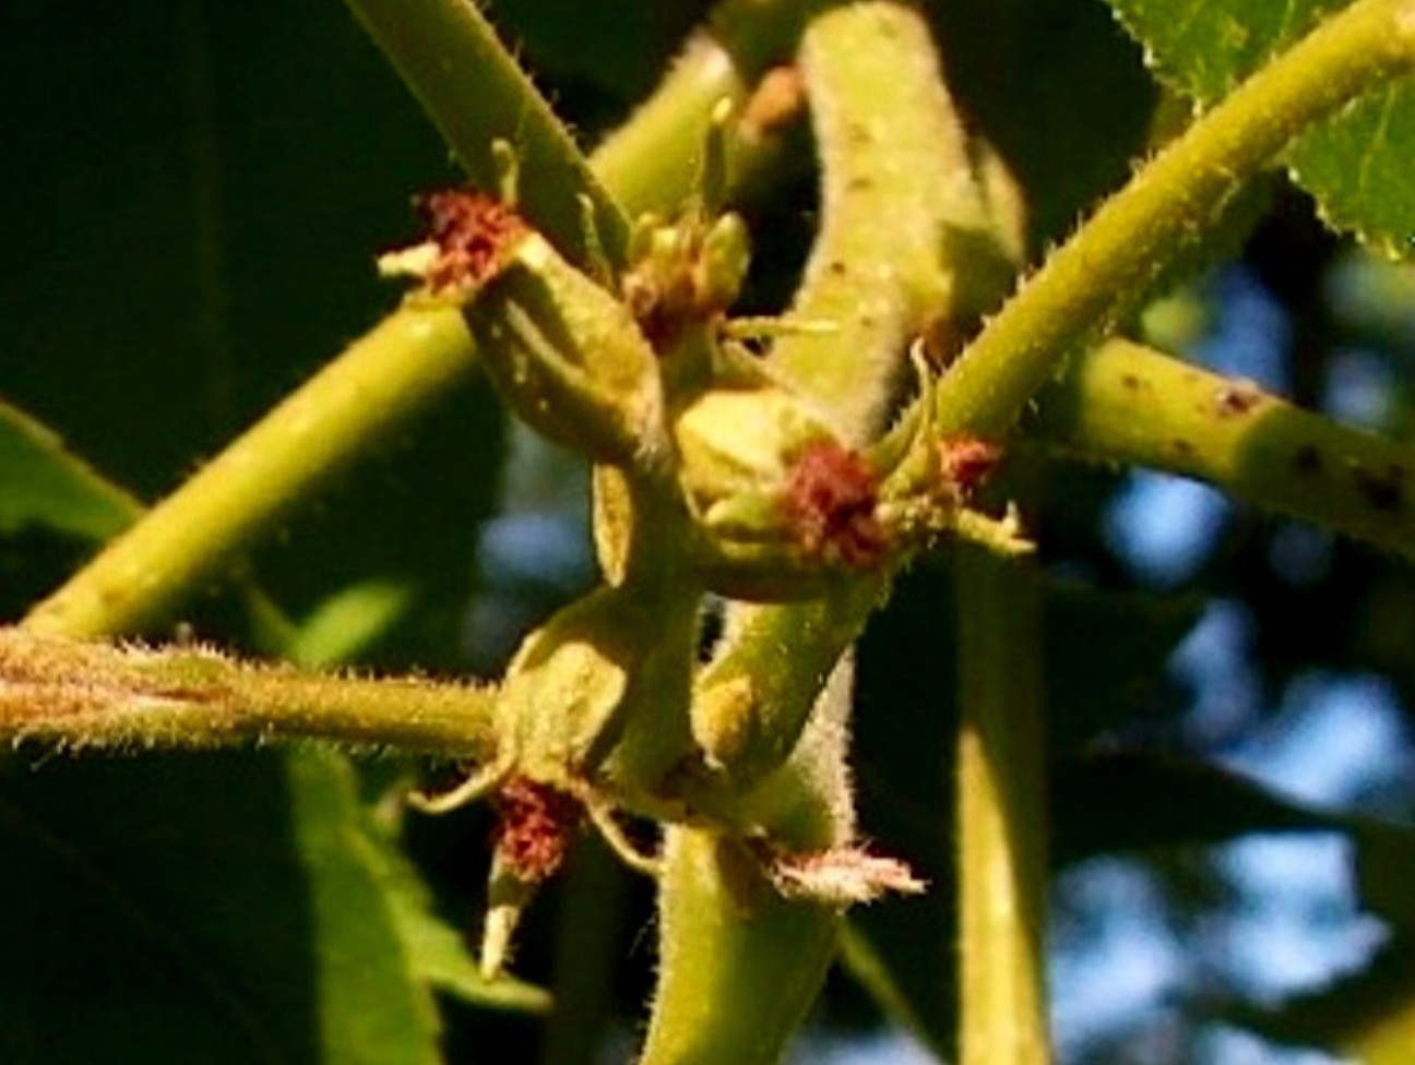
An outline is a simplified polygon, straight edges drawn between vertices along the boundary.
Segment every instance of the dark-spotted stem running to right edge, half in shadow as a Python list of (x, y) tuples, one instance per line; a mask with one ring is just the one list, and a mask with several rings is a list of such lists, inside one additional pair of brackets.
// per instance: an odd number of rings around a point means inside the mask
[(1041, 444), (1148, 465), (1415, 557), (1409, 446), (1293, 407), (1129, 341), (1080, 356), (1040, 397)]

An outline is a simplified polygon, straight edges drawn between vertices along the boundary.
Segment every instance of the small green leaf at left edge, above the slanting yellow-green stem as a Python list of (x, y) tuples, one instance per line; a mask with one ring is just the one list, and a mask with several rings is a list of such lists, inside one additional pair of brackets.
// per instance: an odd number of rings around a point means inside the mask
[(28, 526), (102, 543), (142, 504), (105, 481), (38, 421), (0, 400), (0, 536)]

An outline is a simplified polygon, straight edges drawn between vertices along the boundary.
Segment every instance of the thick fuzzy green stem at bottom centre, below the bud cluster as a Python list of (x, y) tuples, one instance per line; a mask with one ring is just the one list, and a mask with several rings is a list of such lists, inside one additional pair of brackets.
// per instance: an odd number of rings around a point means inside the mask
[[(798, 854), (846, 846), (853, 662), (835, 668), (791, 758), (750, 796), (754, 823)], [(641, 1065), (774, 1065), (835, 953), (841, 907), (788, 898), (761, 856), (716, 829), (674, 825), (659, 877), (659, 973)]]

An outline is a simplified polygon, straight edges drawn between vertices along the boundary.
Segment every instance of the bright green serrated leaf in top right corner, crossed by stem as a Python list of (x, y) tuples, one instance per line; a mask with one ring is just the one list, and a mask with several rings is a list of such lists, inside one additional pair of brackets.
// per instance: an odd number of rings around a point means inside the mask
[[(1159, 75), (1211, 103), (1296, 42), (1343, 0), (1108, 0)], [(1373, 92), (1289, 150), (1323, 218), (1388, 256), (1415, 253), (1415, 85)]]

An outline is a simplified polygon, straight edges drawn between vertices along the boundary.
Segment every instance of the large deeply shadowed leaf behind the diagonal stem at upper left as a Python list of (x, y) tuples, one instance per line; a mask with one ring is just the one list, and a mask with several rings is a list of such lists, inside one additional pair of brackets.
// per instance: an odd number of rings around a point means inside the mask
[[(415, 236), (413, 192), (457, 180), (337, 3), (105, 7), (82, 34), (58, 8), (4, 4), (0, 91), (0, 215), (23, 263), (0, 296), (0, 395), (144, 499), (396, 304), (374, 260)], [(499, 455), (499, 405), (468, 379), (269, 530), (250, 570), (296, 615), (358, 581), (402, 584), (417, 608), (379, 665), (456, 666)], [(8, 612), (18, 590), (52, 588), (34, 554), (47, 577), (74, 564), (24, 546), (14, 578), (0, 559)]]

